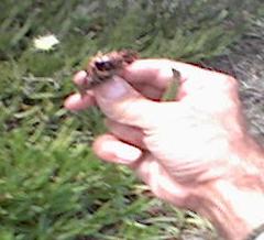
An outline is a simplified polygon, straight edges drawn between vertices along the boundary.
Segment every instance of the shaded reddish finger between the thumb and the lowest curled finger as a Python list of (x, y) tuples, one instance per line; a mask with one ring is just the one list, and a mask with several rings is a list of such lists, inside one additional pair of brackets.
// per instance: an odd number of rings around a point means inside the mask
[(116, 135), (118, 139), (123, 142), (128, 142), (132, 145), (135, 145), (140, 149), (145, 149), (145, 144), (143, 142), (144, 134), (141, 129), (121, 124), (119, 122), (112, 121), (110, 119), (106, 120), (106, 126), (108, 130)]

